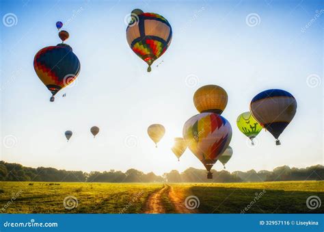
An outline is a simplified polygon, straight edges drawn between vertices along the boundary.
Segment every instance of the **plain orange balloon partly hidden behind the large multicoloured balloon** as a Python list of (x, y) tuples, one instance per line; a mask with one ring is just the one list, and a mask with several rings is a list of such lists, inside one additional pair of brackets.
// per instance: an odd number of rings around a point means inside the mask
[(224, 88), (215, 85), (202, 86), (193, 95), (193, 103), (200, 113), (214, 112), (221, 114), (228, 101)]

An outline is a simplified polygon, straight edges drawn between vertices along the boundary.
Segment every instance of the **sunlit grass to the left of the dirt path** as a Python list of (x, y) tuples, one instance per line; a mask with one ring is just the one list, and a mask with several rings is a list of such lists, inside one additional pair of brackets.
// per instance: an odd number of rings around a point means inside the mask
[[(5, 213), (49, 214), (136, 214), (140, 213), (148, 195), (163, 184), (155, 183), (44, 183), (1, 182), (0, 211), (12, 196), (21, 191)], [(78, 206), (66, 209), (66, 196), (75, 196)]]

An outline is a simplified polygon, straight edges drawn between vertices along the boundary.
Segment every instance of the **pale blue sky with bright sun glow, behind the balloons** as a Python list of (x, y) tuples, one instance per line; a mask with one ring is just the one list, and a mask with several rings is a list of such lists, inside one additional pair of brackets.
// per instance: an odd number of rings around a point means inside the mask
[[(1, 1), (1, 160), (66, 170), (136, 168), (157, 175), (204, 168), (187, 149), (170, 150), (198, 114), (195, 90), (215, 84), (228, 92), (224, 116), (234, 151), (228, 171), (323, 164), (323, 18), (321, 1)], [(131, 10), (163, 15), (172, 43), (146, 72), (126, 42)], [(8, 18), (9, 17), (9, 18)], [(12, 19), (12, 20), (10, 20)], [(49, 102), (33, 57), (66, 41), (81, 62), (77, 81)], [(162, 62), (163, 61), (163, 62)], [(157, 67), (157, 64), (159, 66)], [(236, 119), (263, 90), (281, 88), (297, 114), (280, 136), (262, 131), (250, 146)], [(66, 97), (62, 94), (66, 93)], [(166, 133), (156, 149), (146, 129)], [(100, 127), (94, 139), (90, 127)], [(73, 131), (66, 142), (64, 131)], [(221, 170), (221, 164), (215, 164)]]

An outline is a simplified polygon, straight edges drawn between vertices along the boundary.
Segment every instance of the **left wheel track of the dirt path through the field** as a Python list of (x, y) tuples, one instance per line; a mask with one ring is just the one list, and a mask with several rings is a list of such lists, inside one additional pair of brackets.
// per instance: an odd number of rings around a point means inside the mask
[(144, 214), (165, 214), (165, 208), (163, 207), (161, 198), (169, 189), (169, 185), (163, 185), (161, 190), (151, 194), (146, 202), (146, 211)]

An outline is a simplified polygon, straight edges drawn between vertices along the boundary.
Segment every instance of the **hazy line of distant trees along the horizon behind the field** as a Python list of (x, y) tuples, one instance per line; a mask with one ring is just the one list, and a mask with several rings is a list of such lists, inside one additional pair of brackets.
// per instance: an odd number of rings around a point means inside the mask
[(157, 176), (153, 172), (144, 173), (136, 169), (126, 172), (109, 170), (105, 172), (82, 172), (57, 170), (55, 168), (28, 168), (21, 164), (10, 164), (0, 161), (0, 181), (63, 181), (63, 182), (260, 182), (260, 181), (310, 181), (324, 179), (324, 166), (308, 168), (290, 168), (281, 166), (272, 171), (249, 170), (247, 172), (212, 170), (213, 179), (206, 179), (206, 170), (188, 168), (184, 172), (172, 170)]

